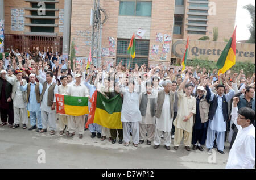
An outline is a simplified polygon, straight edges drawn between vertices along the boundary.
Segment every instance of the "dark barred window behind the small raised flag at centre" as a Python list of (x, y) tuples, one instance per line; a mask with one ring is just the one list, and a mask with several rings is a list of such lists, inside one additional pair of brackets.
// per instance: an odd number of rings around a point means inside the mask
[[(123, 60), (123, 64), (129, 64), (130, 55), (127, 52), (130, 39), (118, 39), (117, 40), (117, 64)], [(149, 44), (148, 40), (137, 40), (135, 43), (135, 53), (136, 56), (134, 59), (131, 58), (130, 67), (135, 68), (135, 63), (141, 66), (143, 63), (147, 65), (148, 63), (148, 53), (149, 53)]]

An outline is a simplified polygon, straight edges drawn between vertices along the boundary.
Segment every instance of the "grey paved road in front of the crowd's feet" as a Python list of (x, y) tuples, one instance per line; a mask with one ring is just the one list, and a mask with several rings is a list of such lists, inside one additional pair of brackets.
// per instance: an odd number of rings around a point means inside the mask
[[(229, 144), (225, 145), (226, 147)], [(82, 139), (65, 135), (38, 134), (35, 130), (9, 129), (0, 127), (0, 168), (225, 168), (228, 148), (222, 155), (216, 150), (216, 163), (213, 156), (191, 150), (187, 152), (181, 145), (174, 150), (166, 150), (163, 145), (153, 149), (153, 145), (111, 144), (108, 139), (100, 141), (90, 137), (85, 131)], [(38, 163), (38, 150), (46, 153), (46, 163)], [(210, 159), (210, 161), (209, 161)]]

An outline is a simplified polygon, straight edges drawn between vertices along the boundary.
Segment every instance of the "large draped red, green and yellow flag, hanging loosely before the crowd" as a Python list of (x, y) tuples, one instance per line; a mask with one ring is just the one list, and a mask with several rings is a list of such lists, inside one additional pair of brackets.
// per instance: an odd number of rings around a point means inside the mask
[(122, 98), (117, 95), (111, 99), (107, 99), (95, 91), (90, 99), (92, 106), (85, 127), (89, 124), (96, 123), (110, 129), (122, 129), (121, 110)]

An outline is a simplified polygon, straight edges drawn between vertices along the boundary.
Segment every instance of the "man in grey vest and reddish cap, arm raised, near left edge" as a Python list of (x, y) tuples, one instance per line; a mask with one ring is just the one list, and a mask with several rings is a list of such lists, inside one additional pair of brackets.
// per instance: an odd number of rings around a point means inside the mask
[(16, 70), (16, 77), (10, 78), (5, 73), (5, 79), (11, 85), (13, 85), (13, 89), (11, 92), (11, 99), (13, 99), (13, 110), (14, 110), (14, 126), (13, 129), (19, 127), (20, 120), (22, 120), (23, 129), (27, 128), (28, 117), (27, 117), (27, 110), (26, 110), (26, 99), (27, 93), (25, 91), (21, 91), (20, 81), (22, 81), (23, 85), (26, 85), (26, 81), (22, 79), (22, 71)]

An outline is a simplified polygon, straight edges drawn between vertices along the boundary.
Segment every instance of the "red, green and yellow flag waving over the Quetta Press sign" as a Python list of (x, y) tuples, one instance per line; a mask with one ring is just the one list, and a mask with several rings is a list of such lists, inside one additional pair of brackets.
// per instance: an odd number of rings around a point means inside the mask
[(224, 74), (227, 70), (232, 68), (234, 64), (236, 64), (236, 29), (226, 44), (226, 47), (221, 53), (220, 58), (218, 58), (216, 66), (218, 67), (218, 74)]

